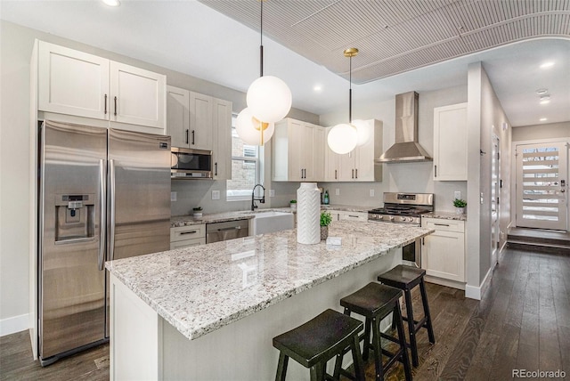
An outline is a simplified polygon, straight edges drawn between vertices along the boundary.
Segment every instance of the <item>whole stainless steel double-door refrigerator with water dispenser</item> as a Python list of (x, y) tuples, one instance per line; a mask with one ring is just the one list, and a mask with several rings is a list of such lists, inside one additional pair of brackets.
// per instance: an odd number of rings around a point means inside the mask
[(39, 139), (38, 355), (109, 338), (104, 262), (170, 247), (170, 137), (45, 121)]

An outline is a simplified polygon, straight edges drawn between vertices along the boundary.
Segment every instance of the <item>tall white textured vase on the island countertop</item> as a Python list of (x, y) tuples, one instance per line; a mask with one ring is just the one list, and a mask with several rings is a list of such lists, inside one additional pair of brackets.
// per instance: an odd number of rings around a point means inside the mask
[(297, 190), (297, 242), (321, 242), (321, 190), (316, 182), (301, 182)]

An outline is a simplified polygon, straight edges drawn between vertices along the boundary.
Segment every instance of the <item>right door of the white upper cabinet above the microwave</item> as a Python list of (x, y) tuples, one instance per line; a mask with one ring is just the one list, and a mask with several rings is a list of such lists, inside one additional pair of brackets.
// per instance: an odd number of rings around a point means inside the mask
[(214, 99), (209, 95), (190, 92), (189, 147), (196, 150), (212, 150)]

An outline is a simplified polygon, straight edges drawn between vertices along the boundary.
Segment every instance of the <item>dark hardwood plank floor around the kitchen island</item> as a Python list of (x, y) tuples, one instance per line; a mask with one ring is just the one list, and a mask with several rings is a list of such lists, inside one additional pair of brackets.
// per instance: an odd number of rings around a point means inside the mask
[[(570, 256), (506, 249), (480, 302), (427, 286), (436, 345), (419, 332), (414, 380), (508, 380), (513, 369), (560, 369), (570, 379)], [(416, 296), (414, 311), (419, 303)], [(373, 361), (366, 371), (373, 380)], [(28, 332), (0, 337), (0, 379), (107, 380), (109, 345), (43, 369), (32, 360)], [(402, 366), (387, 379), (403, 379)]]

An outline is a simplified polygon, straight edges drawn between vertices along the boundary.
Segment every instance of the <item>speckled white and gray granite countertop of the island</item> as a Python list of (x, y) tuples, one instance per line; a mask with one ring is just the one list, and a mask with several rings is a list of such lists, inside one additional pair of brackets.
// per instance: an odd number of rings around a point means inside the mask
[(105, 263), (118, 280), (195, 339), (369, 263), (432, 230), (338, 221), (341, 246), (297, 244), (297, 231), (184, 247)]

